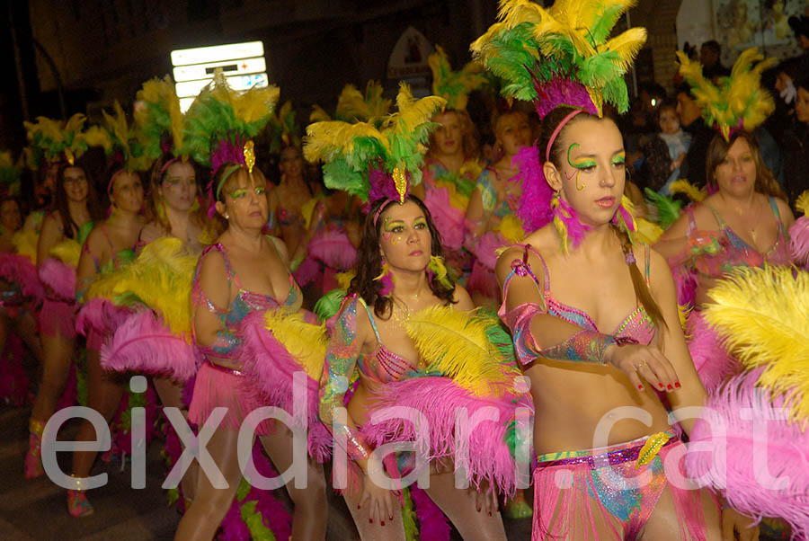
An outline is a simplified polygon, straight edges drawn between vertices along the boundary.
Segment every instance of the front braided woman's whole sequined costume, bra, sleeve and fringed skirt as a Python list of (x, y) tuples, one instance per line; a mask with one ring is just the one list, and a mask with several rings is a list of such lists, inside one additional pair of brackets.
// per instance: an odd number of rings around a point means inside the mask
[[(511, 273), (503, 283), (503, 297), (508, 295), (511, 279), (515, 276), (539, 281), (528, 262), (533, 253), (542, 262), (545, 277), (540, 290), (544, 306), (525, 303), (506, 312), (502, 304), (499, 315), (511, 329), (517, 359), (528, 365), (541, 357), (540, 348), (533, 339), (530, 324), (534, 315), (554, 315), (582, 328), (573, 335), (587, 341), (588, 333), (599, 329), (591, 316), (556, 300), (550, 291), (550, 275), (542, 256), (530, 245), (523, 247), (521, 259), (511, 262)], [(645, 276), (649, 279), (649, 248), (646, 247)], [(654, 337), (654, 326), (639, 306), (624, 318), (613, 333), (616, 343), (648, 344)], [(583, 346), (573, 345), (570, 358), (577, 359)], [(689, 491), (667, 480), (665, 459), (671, 452), (684, 452), (683, 444), (674, 431), (661, 432), (634, 441), (575, 451), (547, 453), (537, 457), (533, 473), (534, 526), (532, 539), (565, 539), (570, 537), (598, 539), (597, 514), (612, 517), (603, 520), (612, 529), (609, 538), (636, 539), (651, 516), (664, 489), (668, 487), (680, 522), (680, 538), (705, 539), (702, 505), (699, 492)], [(677, 468), (680, 470), (680, 467)], [(681, 473), (678, 471), (681, 475)], [(640, 475), (646, 483), (636, 483)], [(682, 476), (682, 475), (681, 475)], [(599, 521), (600, 522), (600, 521)], [(584, 536), (584, 537), (580, 537)], [(687, 537), (688, 536), (688, 537)]]

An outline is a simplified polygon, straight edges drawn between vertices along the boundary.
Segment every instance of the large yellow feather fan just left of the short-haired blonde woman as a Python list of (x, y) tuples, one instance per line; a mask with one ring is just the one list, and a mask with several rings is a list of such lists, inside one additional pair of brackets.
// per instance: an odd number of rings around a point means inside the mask
[(87, 299), (106, 297), (113, 301), (134, 295), (163, 316), (173, 333), (191, 333), (191, 281), (198, 257), (189, 255), (182, 241), (157, 239), (126, 267), (93, 281)]

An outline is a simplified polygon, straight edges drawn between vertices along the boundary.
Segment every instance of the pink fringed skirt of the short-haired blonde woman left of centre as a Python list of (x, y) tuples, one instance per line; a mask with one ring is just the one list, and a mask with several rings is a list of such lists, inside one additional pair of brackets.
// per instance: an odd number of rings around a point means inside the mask
[[(194, 382), (188, 418), (197, 426), (202, 426), (214, 408), (225, 407), (227, 414), (219, 427), (239, 430), (250, 412), (267, 405), (262, 403), (257, 393), (250, 392), (250, 386), (244, 385), (244, 377), (236, 370), (212, 364), (208, 360), (203, 362)], [(268, 419), (258, 424), (255, 434), (265, 436), (273, 431), (274, 423)]]

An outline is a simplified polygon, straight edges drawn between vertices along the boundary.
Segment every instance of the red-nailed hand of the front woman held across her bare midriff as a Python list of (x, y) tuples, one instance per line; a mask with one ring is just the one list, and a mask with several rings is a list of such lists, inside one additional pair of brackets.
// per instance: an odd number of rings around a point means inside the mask
[(643, 390), (641, 377), (653, 388), (671, 392), (680, 388), (680, 378), (669, 359), (655, 346), (643, 344), (612, 345), (606, 351), (607, 362), (629, 377), (633, 386)]

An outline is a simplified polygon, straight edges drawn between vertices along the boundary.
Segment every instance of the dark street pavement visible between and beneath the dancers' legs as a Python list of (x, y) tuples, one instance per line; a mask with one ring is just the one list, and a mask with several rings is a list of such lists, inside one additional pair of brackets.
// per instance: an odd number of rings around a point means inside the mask
[[(180, 515), (167, 504), (160, 485), (166, 472), (155, 440), (147, 452), (146, 488), (130, 487), (129, 464), (121, 469), (118, 459), (96, 461), (93, 474), (106, 472), (108, 483), (88, 492), (95, 513), (83, 519), (67, 514), (65, 490), (47, 476), (26, 480), (22, 459), (28, 446), (28, 408), (0, 405), (0, 541), (146, 541), (172, 539)], [(72, 439), (77, 421), (69, 421), (59, 439)], [(69, 453), (58, 453), (63, 471), (68, 471)], [(282, 492), (282, 491), (279, 491)], [(342, 501), (329, 490), (329, 540), (359, 539)], [(286, 498), (285, 493), (277, 497)], [(509, 539), (529, 539), (530, 520), (506, 521)], [(460, 539), (453, 532), (453, 539)], [(429, 540), (422, 540), (429, 541)]]

